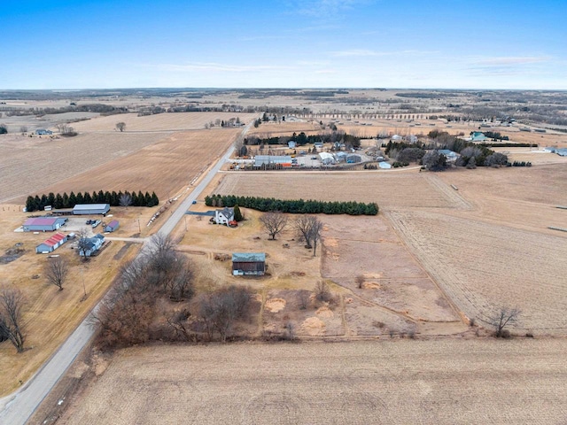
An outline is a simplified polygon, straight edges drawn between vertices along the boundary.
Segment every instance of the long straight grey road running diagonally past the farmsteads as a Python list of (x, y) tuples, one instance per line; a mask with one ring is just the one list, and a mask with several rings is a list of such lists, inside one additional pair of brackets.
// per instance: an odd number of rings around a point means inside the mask
[[(243, 129), (239, 137), (244, 137), (246, 132), (252, 127), (252, 123), (253, 121)], [(232, 151), (233, 145), (219, 158), (181, 204), (177, 205), (175, 211), (171, 213), (167, 221), (159, 229), (159, 233), (167, 236), (172, 232), (177, 222), (183, 218), (183, 215), (189, 209), (191, 203), (197, 199), (201, 191), (213, 180), (214, 174), (228, 160)], [(146, 246), (147, 244), (144, 244), (142, 251), (144, 251)], [(95, 307), (95, 311), (97, 307), (98, 305)], [(41, 404), (43, 398), (49, 394), (61, 376), (66, 373), (67, 368), (71, 366), (77, 355), (89, 343), (94, 333), (95, 329), (90, 325), (88, 316), (32, 379), (10, 396), (0, 398), (0, 424), (24, 425)]]

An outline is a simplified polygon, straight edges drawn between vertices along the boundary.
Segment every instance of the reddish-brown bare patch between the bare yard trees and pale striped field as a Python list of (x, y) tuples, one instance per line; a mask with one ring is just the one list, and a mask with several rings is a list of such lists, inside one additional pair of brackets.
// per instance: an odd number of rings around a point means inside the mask
[[(323, 277), (404, 319), (460, 321), (444, 294), (382, 217), (330, 216), (323, 220)], [(363, 282), (356, 282), (359, 276)], [(383, 324), (384, 333), (395, 329), (388, 322)]]

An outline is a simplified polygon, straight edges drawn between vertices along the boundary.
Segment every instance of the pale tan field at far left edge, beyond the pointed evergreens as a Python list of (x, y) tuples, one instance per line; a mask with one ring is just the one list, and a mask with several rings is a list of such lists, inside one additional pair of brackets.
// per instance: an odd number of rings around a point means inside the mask
[[(0, 138), (0, 157), (3, 158), (0, 203), (16, 197), (21, 202), (42, 188), (128, 156), (167, 135), (169, 133), (163, 132), (85, 134), (57, 139), (4, 136)], [(92, 175), (91, 180), (94, 180)], [(71, 190), (76, 193), (81, 189)]]

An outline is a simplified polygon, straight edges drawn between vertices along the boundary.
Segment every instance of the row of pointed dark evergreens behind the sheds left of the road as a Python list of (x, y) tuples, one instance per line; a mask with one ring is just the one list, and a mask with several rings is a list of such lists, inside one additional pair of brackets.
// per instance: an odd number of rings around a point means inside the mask
[(50, 192), (48, 195), (43, 194), (41, 197), (35, 195), (35, 197), (29, 196), (26, 201), (26, 209), (28, 212), (41, 211), (47, 205), (51, 205), (53, 208), (73, 208), (77, 204), (110, 204), (110, 206), (155, 206), (159, 205), (159, 198), (155, 192), (142, 193), (142, 191), (133, 192), (109, 192), (106, 190), (103, 192), (99, 190), (98, 192), (93, 191), (92, 194), (89, 192), (77, 193), (71, 192), (69, 195), (65, 192), (63, 195), (58, 193), (57, 195)]

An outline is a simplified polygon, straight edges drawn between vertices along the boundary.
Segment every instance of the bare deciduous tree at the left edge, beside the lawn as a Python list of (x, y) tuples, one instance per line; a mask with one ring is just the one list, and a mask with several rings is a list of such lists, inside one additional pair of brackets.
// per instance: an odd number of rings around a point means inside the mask
[(0, 288), (0, 336), (9, 339), (18, 352), (24, 351), (25, 337), (21, 326), (24, 296), (14, 288)]

